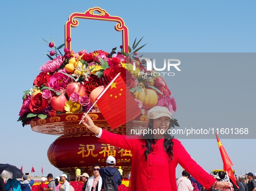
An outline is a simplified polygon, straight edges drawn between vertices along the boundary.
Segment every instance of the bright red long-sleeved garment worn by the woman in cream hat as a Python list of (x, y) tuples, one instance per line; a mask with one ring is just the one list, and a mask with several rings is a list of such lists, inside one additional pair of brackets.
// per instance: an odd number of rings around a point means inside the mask
[(177, 139), (172, 139), (174, 157), (171, 161), (163, 147), (164, 139), (156, 140), (152, 153), (148, 155), (148, 161), (144, 156), (146, 147), (142, 146), (146, 141), (139, 139), (139, 136), (126, 138), (126, 135), (102, 130), (99, 141), (132, 151), (129, 191), (177, 191), (175, 169), (178, 163), (205, 188), (210, 188), (216, 181), (191, 158)]

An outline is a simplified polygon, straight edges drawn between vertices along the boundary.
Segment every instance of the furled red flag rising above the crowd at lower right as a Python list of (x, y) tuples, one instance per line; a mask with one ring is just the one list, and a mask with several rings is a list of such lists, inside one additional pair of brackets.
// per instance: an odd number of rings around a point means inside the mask
[(237, 181), (236, 181), (235, 175), (234, 175), (234, 173), (231, 169), (231, 166), (233, 166), (233, 163), (231, 162), (229, 156), (227, 155), (227, 152), (224, 149), (224, 146), (221, 143), (217, 133), (215, 133), (215, 135), (216, 135), (218, 146), (219, 146), (219, 149), (220, 149), (220, 155), (221, 155), (221, 158), (222, 158), (222, 161), (223, 161), (223, 169), (227, 173), (229, 178), (232, 180), (232, 182), (237, 186)]

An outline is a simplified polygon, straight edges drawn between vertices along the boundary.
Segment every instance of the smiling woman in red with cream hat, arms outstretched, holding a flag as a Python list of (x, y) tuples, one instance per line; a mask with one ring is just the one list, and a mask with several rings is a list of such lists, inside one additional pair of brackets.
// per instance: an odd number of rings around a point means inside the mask
[(175, 169), (178, 163), (207, 190), (213, 187), (230, 191), (228, 182), (217, 182), (191, 158), (180, 141), (167, 133), (177, 124), (166, 107), (155, 106), (149, 110), (148, 129), (152, 134), (145, 136), (126, 138), (126, 135), (97, 127), (85, 113), (82, 119), (100, 142), (132, 151), (129, 191), (177, 191)]

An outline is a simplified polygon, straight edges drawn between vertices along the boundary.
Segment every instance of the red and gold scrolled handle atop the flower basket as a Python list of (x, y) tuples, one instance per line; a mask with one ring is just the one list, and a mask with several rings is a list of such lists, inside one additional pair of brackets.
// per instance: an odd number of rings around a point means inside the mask
[[(95, 14), (94, 11), (100, 14)], [(75, 18), (118, 22), (115, 29), (116, 31), (123, 31), (123, 52), (128, 53), (128, 28), (124, 25), (123, 19), (118, 16), (110, 16), (104, 9), (99, 7), (88, 9), (84, 13), (72, 13), (69, 16), (65, 24), (65, 47), (69, 50), (71, 50), (71, 27), (75, 28), (79, 24)]]

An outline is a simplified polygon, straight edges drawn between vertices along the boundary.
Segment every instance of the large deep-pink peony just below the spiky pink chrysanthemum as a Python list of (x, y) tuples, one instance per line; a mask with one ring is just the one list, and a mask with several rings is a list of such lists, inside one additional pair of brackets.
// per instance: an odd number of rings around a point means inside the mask
[(63, 88), (66, 88), (72, 79), (67, 75), (62, 73), (55, 73), (51, 76), (50, 82), (48, 83), (49, 88), (54, 89), (55, 91), (60, 91)]

